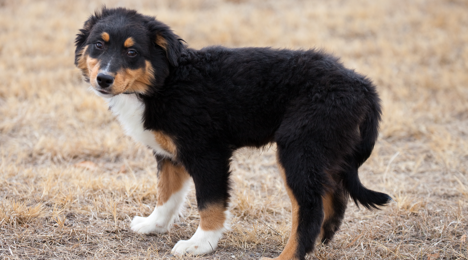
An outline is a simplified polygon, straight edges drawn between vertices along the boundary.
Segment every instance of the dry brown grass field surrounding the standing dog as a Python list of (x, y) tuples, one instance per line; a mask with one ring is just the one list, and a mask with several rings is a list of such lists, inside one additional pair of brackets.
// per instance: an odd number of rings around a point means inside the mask
[[(351, 202), (308, 259), (468, 259), (467, 0), (108, 0), (170, 25), (190, 47), (323, 48), (374, 80), (380, 138), (360, 169), (395, 203)], [(0, 0), (0, 259), (178, 259), (195, 232), (194, 193), (165, 235), (130, 231), (156, 204), (152, 153), (123, 135), (73, 65), (101, 2)], [(278, 256), (291, 205), (275, 146), (232, 162), (232, 228), (211, 255)]]

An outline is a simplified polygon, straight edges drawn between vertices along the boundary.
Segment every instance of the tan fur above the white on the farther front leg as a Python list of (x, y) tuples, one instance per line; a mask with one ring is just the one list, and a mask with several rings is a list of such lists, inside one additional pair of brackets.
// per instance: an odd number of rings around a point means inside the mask
[(158, 202), (156, 206), (166, 203), (171, 195), (178, 192), (185, 181), (190, 178), (189, 173), (183, 166), (175, 165), (167, 159), (161, 162), (161, 168), (158, 173)]

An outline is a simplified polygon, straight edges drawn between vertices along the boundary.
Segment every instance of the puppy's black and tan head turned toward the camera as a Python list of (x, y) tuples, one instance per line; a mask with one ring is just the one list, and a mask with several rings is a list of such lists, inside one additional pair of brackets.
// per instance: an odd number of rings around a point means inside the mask
[(167, 25), (125, 8), (102, 7), (75, 43), (75, 65), (102, 97), (154, 93), (184, 49)]

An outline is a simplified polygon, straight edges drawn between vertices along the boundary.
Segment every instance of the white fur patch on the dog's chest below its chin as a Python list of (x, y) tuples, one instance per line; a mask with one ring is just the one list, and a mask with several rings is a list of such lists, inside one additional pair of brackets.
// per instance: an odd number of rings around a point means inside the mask
[(135, 94), (119, 94), (111, 98), (104, 98), (104, 100), (110, 105), (112, 113), (117, 116), (125, 134), (150, 147), (157, 154), (169, 158), (173, 157), (172, 154), (161, 148), (161, 144), (156, 142), (154, 132), (143, 128), (145, 104)]

